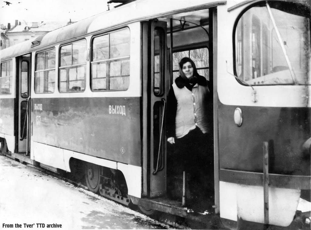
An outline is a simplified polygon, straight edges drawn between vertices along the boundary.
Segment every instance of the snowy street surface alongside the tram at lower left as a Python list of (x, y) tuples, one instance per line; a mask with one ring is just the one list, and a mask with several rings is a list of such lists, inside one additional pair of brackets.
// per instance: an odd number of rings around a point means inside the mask
[(2, 155), (0, 191), (3, 229), (168, 228), (121, 204)]

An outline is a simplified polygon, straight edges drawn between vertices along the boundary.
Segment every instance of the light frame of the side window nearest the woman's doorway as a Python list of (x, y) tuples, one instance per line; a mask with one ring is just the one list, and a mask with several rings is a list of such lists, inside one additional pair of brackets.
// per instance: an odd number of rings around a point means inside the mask
[[(110, 34), (111, 33), (115, 33), (115, 32), (118, 32), (118, 31), (122, 31), (122, 30), (128, 30), (129, 32), (129, 35), (128, 35), (128, 38), (129, 38), (129, 55), (126, 55), (126, 56), (120, 56), (120, 57), (116, 57), (116, 58), (110, 58)], [(95, 60), (93, 61), (93, 42), (96, 38), (98, 37), (101, 37), (101, 36), (105, 36), (105, 35), (108, 35), (108, 59), (100, 59), (100, 60)], [(114, 92), (114, 91), (127, 91), (129, 89), (129, 85), (130, 85), (130, 69), (131, 69), (131, 30), (128, 26), (126, 27), (123, 27), (123, 28), (119, 28), (117, 30), (113, 30), (113, 31), (107, 31), (107, 32), (104, 32), (104, 33), (101, 33), (101, 34), (97, 34), (97, 35), (94, 35), (91, 37), (91, 42), (90, 42), (90, 89), (91, 89), (91, 92)], [(117, 62), (117, 61), (120, 61), (121, 62), (121, 75), (120, 76), (110, 76), (106, 74), (106, 77), (100, 77), (99, 79), (102, 79), (102, 78), (105, 78), (106, 79), (106, 88), (109, 87), (109, 80), (110, 78), (116, 78), (116, 77), (128, 77), (128, 87), (126, 89), (93, 89), (93, 80), (94, 79), (98, 79), (98, 78), (93, 78), (93, 64), (96, 64), (96, 63), (105, 63), (106, 64), (106, 73), (109, 72), (109, 68), (107, 69), (107, 66), (110, 65), (110, 63), (113, 63), (113, 62)], [(125, 75), (125, 76), (122, 76), (122, 61), (128, 61), (129, 62), (129, 74), (128, 75)]]

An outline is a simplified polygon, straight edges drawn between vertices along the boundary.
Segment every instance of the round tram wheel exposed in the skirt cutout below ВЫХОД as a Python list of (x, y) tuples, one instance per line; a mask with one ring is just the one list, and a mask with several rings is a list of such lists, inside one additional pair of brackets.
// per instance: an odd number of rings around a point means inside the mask
[(85, 179), (88, 189), (94, 193), (99, 192), (100, 185), (100, 167), (87, 162), (85, 167)]

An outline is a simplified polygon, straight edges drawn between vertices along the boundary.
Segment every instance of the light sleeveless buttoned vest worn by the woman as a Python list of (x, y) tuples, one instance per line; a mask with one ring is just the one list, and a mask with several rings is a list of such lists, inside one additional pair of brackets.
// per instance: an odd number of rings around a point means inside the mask
[(182, 138), (196, 126), (202, 133), (208, 133), (209, 127), (205, 116), (208, 87), (195, 84), (190, 91), (187, 87), (178, 88), (175, 83), (172, 86), (177, 100), (176, 138)]

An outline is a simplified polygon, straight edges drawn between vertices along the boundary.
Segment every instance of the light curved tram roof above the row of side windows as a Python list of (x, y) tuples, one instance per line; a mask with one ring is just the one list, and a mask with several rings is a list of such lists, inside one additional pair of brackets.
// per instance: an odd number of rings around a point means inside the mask
[[(187, 9), (196, 10), (202, 8), (204, 5), (211, 7), (226, 3), (226, 1), (219, 0), (181, 0), (178, 1), (177, 4), (176, 2), (174, 2), (174, 4), (169, 2), (170, 1), (166, 0), (136, 0), (130, 2), (121, 7), (105, 11), (98, 15), (50, 31), (34, 40), (28, 40), (3, 49), (1, 50), (1, 59), (27, 54), (33, 50), (49, 47), (70, 39), (79, 38), (92, 32), (125, 26), (129, 22), (149, 20), (168, 15), (172, 16), (173, 14), (185, 12)], [(164, 6), (165, 11), (163, 10)], [(120, 15), (127, 16), (120, 17)], [(40, 40), (40, 42), (38, 43), (36, 40)], [(33, 43), (35, 43), (35, 45), (33, 45)]]

